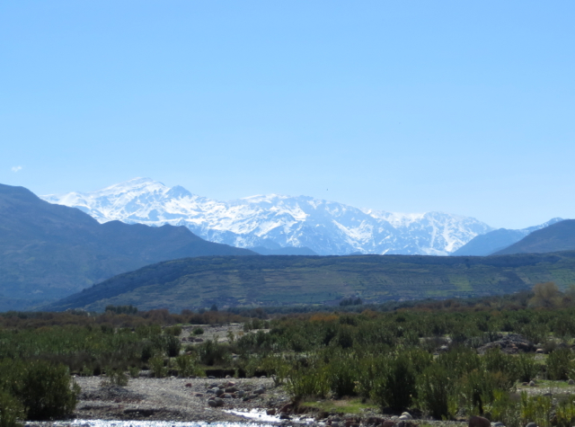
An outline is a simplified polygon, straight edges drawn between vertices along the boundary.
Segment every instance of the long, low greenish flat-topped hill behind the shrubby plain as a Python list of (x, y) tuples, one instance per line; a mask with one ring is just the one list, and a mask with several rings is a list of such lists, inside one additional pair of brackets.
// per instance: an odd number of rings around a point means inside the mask
[(337, 304), (485, 296), (535, 283), (575, 282), (575, 252), (491, 257), (419, 255), (228, 256), (160, 262), (121, 274), (43, 307), (65, 310), (107, 305), (142, 309)]

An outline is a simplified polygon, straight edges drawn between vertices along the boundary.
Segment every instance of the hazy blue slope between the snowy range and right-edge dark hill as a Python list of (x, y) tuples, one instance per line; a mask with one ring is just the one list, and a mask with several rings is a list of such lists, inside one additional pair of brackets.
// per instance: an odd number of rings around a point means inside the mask
[(487, 256), (494, 254), (510, 245), (517, 243), (523, 237), (528, 236), (536, 230), (549, 227), (556, 222), (562, 221), (562, 218), (553, 218), (539, 226), (522, 228), (520, 230), (509, 230), (500, 228), (490, 231), (484, 235), (473, 237), (473, 239), (461, 246), (454, 256)]

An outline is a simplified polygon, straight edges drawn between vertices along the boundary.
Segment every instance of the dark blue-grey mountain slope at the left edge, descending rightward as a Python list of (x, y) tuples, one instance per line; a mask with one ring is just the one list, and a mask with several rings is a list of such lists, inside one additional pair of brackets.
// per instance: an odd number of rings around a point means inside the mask
[(99, 224), (80, 211), (0, 184), (0, 311), (63, 298), (146, 264), (251, 251), (206, 242), (186, 227)]

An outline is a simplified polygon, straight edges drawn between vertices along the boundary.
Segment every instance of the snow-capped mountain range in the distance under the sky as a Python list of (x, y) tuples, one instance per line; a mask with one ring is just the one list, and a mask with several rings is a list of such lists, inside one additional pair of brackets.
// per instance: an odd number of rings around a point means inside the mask
[(41, 198), (82, 209), (100, 222), (118, 219), (129, 224), (186, 226), (211, 242), (270, 249), (306, 246), (323, 255), (446, 255), (492, 229), (475, 218), (357, 209), (306, 196), (210, 200), (147, 178), (89, 193)]

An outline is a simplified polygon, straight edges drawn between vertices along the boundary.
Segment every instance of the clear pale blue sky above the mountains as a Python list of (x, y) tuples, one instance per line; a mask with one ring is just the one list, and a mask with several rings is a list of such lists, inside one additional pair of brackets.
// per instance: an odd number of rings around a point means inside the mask
[(575, 218), (575, 2), (0, 1), (0, 182)]

